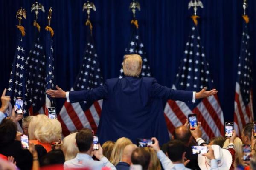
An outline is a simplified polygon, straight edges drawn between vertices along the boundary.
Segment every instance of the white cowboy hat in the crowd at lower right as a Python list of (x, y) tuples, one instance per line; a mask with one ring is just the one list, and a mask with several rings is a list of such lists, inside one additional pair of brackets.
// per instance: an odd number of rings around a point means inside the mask
[[(232, 164), (231, 153), (219, 145), (212, 145), (211, 147), (214, 151), (214, 157), (217, 160), (218, 170), (229, 170)], [(210, 159), (206, 156), (198, 155), (198, 165), (201, 170), (211, 169)]]

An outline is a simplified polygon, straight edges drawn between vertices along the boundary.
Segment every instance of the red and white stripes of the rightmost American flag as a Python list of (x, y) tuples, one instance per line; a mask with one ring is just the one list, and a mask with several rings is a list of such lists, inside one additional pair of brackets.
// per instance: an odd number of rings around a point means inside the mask
[(252, 91), (250, 91), (250, 102), (248, 105), (244, 105), (240, 85), (236, 82), (236, 93), (235, 93), (235, 110), (234, 110), (234, 129), (238, 136), (241, 136), (241, 132), (244, 125), (253, 122), (253, 102), (252, 102)]

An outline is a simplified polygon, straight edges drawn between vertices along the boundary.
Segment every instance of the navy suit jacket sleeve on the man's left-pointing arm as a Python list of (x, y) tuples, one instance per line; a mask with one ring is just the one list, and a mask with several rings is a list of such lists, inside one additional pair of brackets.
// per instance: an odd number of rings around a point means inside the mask
[(69, 93), (69, 99), (71, 103), (82, 101), (96, 101), (100, 99), (105, 99), (107, 98), (107, 96), (108, 87), (106, 84), (91, 90), (70, 91)]

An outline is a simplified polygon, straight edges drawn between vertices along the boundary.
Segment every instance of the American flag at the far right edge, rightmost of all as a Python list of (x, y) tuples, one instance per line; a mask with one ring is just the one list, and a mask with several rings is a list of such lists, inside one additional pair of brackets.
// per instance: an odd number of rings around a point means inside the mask
[(254, 120), (252, 100), (252, 56), (249, 50), (249, 40), (248, 25), (244, 21), (236, 79), (234, 110), (234, 128), (239, 136), (241, 136), (244, 125), (253, 122)]

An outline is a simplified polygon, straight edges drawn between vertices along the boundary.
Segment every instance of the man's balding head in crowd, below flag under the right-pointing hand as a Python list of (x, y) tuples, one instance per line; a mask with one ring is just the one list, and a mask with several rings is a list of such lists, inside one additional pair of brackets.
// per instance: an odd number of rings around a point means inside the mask
[(191, 133), (188, 127), (182, 125), (175, 129), (173, 136), (174, 136), (174, 139), (178, 139), (184, 142), (185, 144), (189, 144)]

